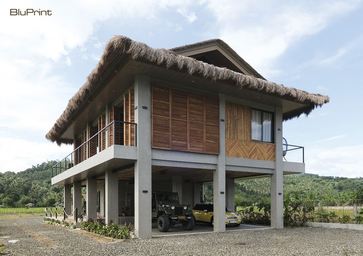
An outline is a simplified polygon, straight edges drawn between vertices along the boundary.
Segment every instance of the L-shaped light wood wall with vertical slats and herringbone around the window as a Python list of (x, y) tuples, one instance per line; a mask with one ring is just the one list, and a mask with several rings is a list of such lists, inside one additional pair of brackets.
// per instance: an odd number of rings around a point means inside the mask
[(226, 156), (275, 161), (275, 144), (251, 141), (251, 107), (226, 102), (225, 115)]

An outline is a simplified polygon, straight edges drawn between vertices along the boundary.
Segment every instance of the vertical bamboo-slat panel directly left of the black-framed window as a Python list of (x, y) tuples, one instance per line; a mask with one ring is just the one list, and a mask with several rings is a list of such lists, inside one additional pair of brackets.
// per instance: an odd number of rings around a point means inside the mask
[(251, 141), (251, 107), (226, 102), (225, 137)]

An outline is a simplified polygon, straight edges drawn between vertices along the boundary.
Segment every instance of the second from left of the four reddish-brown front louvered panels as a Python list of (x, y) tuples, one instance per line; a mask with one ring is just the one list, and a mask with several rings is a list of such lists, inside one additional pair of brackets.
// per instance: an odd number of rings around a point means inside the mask
[(187, 93), (171, 90), (171, 149), (188, 150), (188, 102)]

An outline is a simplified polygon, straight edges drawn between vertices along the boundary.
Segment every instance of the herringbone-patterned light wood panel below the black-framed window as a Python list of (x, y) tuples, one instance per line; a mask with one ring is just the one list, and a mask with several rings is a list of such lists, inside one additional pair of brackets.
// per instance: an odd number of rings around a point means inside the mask
[(226, 139), (225, 143), (228, 157), (275, 161), (274, 144), (235, 139)]

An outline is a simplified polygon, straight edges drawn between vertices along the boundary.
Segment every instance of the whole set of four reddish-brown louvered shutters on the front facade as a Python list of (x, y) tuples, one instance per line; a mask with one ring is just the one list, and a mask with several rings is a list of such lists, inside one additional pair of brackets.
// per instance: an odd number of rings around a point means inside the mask
[(166, 86), (151, 88), (153, 148), (219, 154), (219, 100)]

